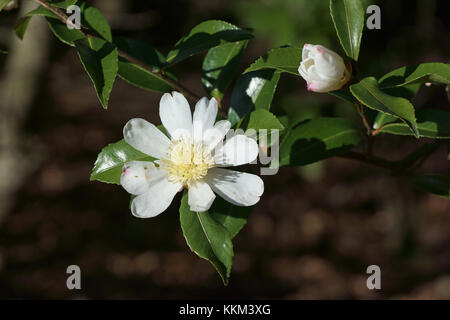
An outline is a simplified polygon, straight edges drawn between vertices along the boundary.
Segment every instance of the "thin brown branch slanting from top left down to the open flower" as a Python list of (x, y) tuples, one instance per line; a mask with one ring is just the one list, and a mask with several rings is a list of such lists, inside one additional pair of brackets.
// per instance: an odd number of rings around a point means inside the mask
[[(68, 16), (61, 10), (59, 10), (58, 8), (52, 7), (51, 5), (49, 5), (45, 0), (33, 0), (34, 2), (36, 2), (37, 4), (45, 7), (46, 9), (50, 10), (52, 13), (54, 13), (59, 20), (61, 20), (61, 22), (65, 23), (65, 24), (70, 24), (73, 27), (76, 27), (68, 18)], [(95, 31), (85, 27), (85, 26), (81, 26), (81, 32), (83, 32), (83, 34), (89, 38), (91, 36), (96, 36), (96, 37), (100, 37), (103, 39), (103, 37), (101, 35), (99, 35), (98, 33), (96, 33)], [(104, 39), (106, 40), (106, 39)], [(106, 40), (107, 41), (107, 40)], [(118, 50), (118, 55), (119, 57), (122, 57), (128, 61), (130, 61), (131, 63), (134, 63), (135, 65), (143, 68), (144, 70), (147, 70), (151, 73), (157, 73), (164, 81), (166, 81), (167, 83), (170, 84), (170, 86), (176, 90), (176, 91), (180, 91), (181, 93), (183, 93), (188, 99), (192, 100), (193, 102), (197, 102), (200, 97), (198, 95), (196, 95), (195, 93), (193, 93), (191, 90), (189, 90), (188, 88), (184, 87), (183, 85), (179, 84), (178, 82), (172, 80), (171, 78), (167, 77), (164, 73), (162, 73), (161, 71), (158, 72), (154, 72), (153, 71), (153, 67), (147, 65), (146, 63), (136, 59), (135, 57), (129, 55), (128, 53), (120, 50), (119, 48), (117, 48)]]

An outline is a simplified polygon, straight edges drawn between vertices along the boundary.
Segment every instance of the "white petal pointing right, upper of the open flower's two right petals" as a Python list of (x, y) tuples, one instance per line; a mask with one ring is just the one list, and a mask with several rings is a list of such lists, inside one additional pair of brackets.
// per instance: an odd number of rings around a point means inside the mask
[(255, 140), (245, 136), (236, 135), (225, 142), (225, 145), (216, 151), (214, 162), (222, 166), (240, 166), (250, 163), (258, 156), (259, 148)]

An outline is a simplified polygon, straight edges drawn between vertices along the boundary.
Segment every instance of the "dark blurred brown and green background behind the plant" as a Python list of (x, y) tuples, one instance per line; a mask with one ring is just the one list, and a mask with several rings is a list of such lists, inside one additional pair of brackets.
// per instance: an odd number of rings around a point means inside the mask
[[(241, 70), (268, 49), (323, 44), (340, 54), (325, 0), (97, 0), (116, 35), (163, 53), (196, 24), (222, 19), (255, 30)], [(449, 62), (448, 1), (365, 1), (381, 7), (381, 30), (365, 30), (361, 74), (406, 64)], [(234, 240), (228, 287), (190, 252), (179, 199), (154, 219), (134, 218), (120, 186), (89, 182), (101, 148), (122, 138), (133, 117), (159, 122), (161, 94), (118, 79), (109, 110), (98, 102), (75, 50), (42, 18), (24, 41), (12, 28), (21, 7), (0, 15), (0, 298), (450, 298), (450, 202), (407, 178), (333, 158), (265, 177), (266, 191)], [(204, 95), (202, 56), (177, 65), (180, 80)], [(273, 110), (288, 116), (344, 116), (353, 108), (307, 93), (283, 76)], [(228, 91), (228, 98), (230, 96)], [(226, 101), (225, 99), (225, 105)], [(421, 88), (416, 108), (449, 109), (442, 86)], [(399, 159), (420, 143), (384, 135), (378, 155)], [(442, 148), (421, 168), (449, 174)], [(66, 288), (79, 265), (82, 290)], [(381, 267), (382, 290), (366, 288), (366, 268)]]

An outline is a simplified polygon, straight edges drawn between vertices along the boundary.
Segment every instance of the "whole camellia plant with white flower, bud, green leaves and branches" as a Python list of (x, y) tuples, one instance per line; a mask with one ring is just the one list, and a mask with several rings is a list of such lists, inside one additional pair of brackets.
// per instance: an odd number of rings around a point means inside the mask
[[(131, 213), (140, 218), (163, 213), (183, 192), (179, 212), (186, 242), (214, 265), (224, 284), (231, 272), (232, 239), (263, 196), (263, 176), (278, 168), (340, 156), (385, 168), (426, 192), (450, 198), (448, 177), (417, 170), (429, 155), (445, 147), (450, 113), (432, 108), (416, 112), (411, 103), (424, 83), (440, 84), (443, 90), (450, 85), (450, 66), (439, 62), (405, 66), (386, 70), (380, 79), (358, 74), (365, 25), (360, 0), (330, 1), (346, 56), (336, 53), (339, 48), (318, 44), (284, 46), (268, 51), (240, 75), (240, 60), (253, 35), (230, 23), (204, 21), (165, 55), (147, 43), (114, 37), (102, 13), (81, 1), (33, 1), (38, 6), (17, 22), (16, 35), (22, 39), (30, 19), (44, 17), (54, 35), (77, 50), (103, 108), (108, 107), (117, 76), (162, 93), (162, 126), (124, 119), (129, 120), (124, 139), (101, 150), (90, 179), (120, 184), (131, 194)], [(16, 5), (17, 1), (0, 0), (0, 9)], [(74, 5), (80, 28), (68, 14)], [(206, 97), (198, 97), (178, 81), (173, 67), (203, 52), (207, 52), (201, 66)], [(361, 125), (345, 118), (298, 121), (272, 113), (274, 93), (285, 73), (302, 77), (309, 91), (346, 101), (358, 111)], [(230, 103), (225, 105), (232, 84)], [(399, 161), (380, 158), (374, 155), (373, 141), (384, 134), (414, 136), (418, 147)], [(419, 144), (423, 138), (426, 143)], [(258, 155), (261, 160), (269, 154), (270, 163), (256, 164)], [(232, 166), (242, 167), (228, 168)]]

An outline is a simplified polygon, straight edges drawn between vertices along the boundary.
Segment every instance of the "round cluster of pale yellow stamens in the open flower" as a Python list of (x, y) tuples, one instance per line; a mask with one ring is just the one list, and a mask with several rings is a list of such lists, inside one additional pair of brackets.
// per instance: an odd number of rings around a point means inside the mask
[(203, 178), (214, 166), (214, 160), (202, 143), (182, 138), (172, 142), (166, 158), (161, 159), (161, 166), (167, 171), (170, 181), (187, 186)]

